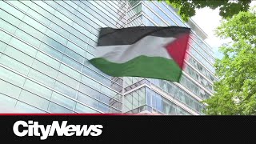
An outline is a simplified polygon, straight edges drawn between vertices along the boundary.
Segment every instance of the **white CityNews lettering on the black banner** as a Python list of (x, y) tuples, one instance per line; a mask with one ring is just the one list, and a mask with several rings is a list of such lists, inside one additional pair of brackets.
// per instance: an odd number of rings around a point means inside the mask
[[(39, 125), (38, 122), (33, 121), (17, 121), (14, 123), (13, 130), (14, 134), (18, 137), (23, 136), (38, 136), (41, 140), (45, 140), (48, 136), (54, 136), (55, 131), (58, 136), (99, 136), (102, 134), (102, 125), (68, 125), (66, 126), (67, 121), (63, 121), (61, 126), (58, 121), (53, 121), (51, 125)], [(22, 130), (19, 130), (18, 127), (22, 126)]]

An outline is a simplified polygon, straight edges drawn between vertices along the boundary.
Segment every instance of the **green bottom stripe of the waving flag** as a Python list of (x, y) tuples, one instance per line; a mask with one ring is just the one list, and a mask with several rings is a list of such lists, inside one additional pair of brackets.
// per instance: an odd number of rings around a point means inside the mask
[(139, 56), (124, 63), (114, 63), (105, 58), (93, 58), (90, 63), (114, 77), (143, 77), (179, 82), (182, 74), (174, 60), (162, 57)]

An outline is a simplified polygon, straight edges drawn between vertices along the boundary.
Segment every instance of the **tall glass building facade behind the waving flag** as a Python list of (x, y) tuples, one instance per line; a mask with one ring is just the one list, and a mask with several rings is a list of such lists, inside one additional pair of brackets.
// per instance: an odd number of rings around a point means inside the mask
[[(181, 82), (114, 78), (90, 65), (107, 26), (191, 27)], [(165, 2), (0, 1), (0, 105), (22, 113), (203, 114), (214, 58), (194, 26)]]

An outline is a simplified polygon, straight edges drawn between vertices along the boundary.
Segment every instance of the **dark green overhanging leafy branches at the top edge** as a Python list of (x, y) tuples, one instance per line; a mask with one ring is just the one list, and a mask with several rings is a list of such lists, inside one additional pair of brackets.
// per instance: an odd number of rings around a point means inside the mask
[(219, 15), (223, 18), (231, 18), (240, 11), (247, 11), (251, 2), (251, 0), (158, 0), (158, 2), (162, 1), (177, 8), (178, 14), (184, 22), (187, 22), (190, 17), (194, 16), (195, 9), (202, 9), (204, 7), (210, 7), (212, 10), (219, 8)]

